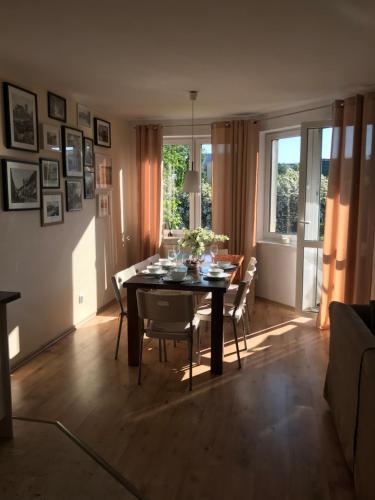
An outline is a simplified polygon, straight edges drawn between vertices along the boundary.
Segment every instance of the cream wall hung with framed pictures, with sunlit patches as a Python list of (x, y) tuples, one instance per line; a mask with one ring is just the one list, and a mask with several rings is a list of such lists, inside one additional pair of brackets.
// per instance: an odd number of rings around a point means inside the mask
[[(47, 89), (32, 87), (26, 80), (11, 83), (38, 94), (39, 123), (60, 125), (47, 116)], [(66, 124), (77, 127), (77, 103), (69, 95), (60, 93), (67, 98)], [(113, 161), (110, 217), (97, 218), (96, 200), (84, 200), (81, 211), (64, 213), (63, 224), (41, 227), (38, 210), (3, 211), (3, 193), (0, 189), (0, 289), (19, 291), (22, 295), (21, 300), (9, 306), (12, 364), (95, 314), (98, 308), (111, 301), (111, 274), (125, 267), (128, 260), (127, 194), (131, 191), (127, 183), (130, 168), (129, 127), (103, 110), (91, 111), (112, 125), (112, 148), (95, 147), (96, 151), (110, 155)], [(41, 150), (37, 154), (6, 149), (2, 108), (0, 115), (1, 157), (33, 162), (38, 162), (39, 156), (57, 157), (62, 167), (61, 153)], [(87, 131), (84, 133), (92, 135)], [(64, 184), (61, 177), (63, 192)], [(78, 303), (79, 294), (84, 296), (82, 304)]]

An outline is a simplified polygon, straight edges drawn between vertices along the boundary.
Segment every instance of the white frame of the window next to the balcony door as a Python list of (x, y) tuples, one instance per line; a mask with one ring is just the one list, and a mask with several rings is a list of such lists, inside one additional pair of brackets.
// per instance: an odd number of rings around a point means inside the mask
[[(297, 234), (283, 234), (271, 232), (271, 180), (272, 180), (272, 141), (277, 139), (286, 139), (290, 137), (301, 137), (301, 127), (293, 127), (285, 130), (268, 132), (265, 134), (265, 172), (264, 172), (264, 210), (263, 210), (263, 238), (264, 240), (283, 242), (287, 238), (289, 243), (296, 245)], [(301, 163), (301, 158), (300, 158)]]

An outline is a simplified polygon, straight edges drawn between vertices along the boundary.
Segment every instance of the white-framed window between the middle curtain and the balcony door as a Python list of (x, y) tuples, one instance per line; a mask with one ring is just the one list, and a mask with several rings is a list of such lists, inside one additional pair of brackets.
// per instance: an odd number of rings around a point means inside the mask
[(295, 237), (298, 222), (301, 136), (296, 130), (266, 136), (265, 235)]

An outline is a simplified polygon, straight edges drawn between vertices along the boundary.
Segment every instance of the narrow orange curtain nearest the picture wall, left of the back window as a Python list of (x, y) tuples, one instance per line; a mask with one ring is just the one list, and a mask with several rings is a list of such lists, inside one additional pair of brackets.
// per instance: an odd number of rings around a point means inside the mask
[(160, 125), (136, 127), (140, 260), (154, 255), (160, 247), (162, 143)]

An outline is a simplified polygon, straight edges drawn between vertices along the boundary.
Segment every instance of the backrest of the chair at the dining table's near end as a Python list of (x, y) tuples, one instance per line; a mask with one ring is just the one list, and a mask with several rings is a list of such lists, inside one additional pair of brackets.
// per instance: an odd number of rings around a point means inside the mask
[(163, 323), (187, 323), (194, 319), (194, 296), (192, 292), (178, 294), (137, 290), (138, 316)]

